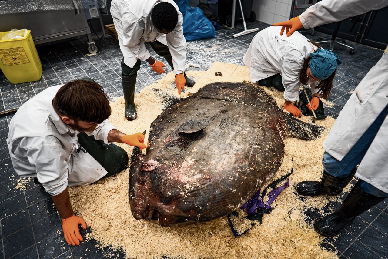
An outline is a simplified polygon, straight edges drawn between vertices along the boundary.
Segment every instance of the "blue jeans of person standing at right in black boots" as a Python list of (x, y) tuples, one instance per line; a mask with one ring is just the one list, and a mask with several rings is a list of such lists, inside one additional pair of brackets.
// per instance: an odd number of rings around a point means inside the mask
[[(369, 146), (379, 131), (380, 126), (387, 114), (388, 106), (384, 108), (384, 110), (380, 113), (372, 125), (365, 131), (365, 133), (360, 137), (357, 143), (353, 146), (352, 149), (350, 149), (350, 151), (341, 161), (336, 160), (333, 156), (325, 151), (322, 158), (322, 164), (325, 171), (331, 176), (335, 177), (349, 176), (350, 171), (352, 171), (352, 169), (361, 162), (362, 158), (364, 158), (365, 153), (369, 149)], [(366, 193), (372, 194), (374, 196), (388, 197), (388, 193), (380, 191), (378, 188), (365, 181), (360, 181), (360, 187)]]

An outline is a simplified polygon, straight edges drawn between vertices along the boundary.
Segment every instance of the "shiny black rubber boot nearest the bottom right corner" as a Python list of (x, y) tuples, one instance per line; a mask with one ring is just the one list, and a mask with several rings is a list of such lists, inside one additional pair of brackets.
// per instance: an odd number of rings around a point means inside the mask
[(360, 181), (358, 181), (343, 201), (340, 209), (315, 223), (315, 231), (322, 236), (336, 236), (343, 228), (352, 224), (357, 216), (371, 209), (384, 199), (365, 193), (360, 188)]

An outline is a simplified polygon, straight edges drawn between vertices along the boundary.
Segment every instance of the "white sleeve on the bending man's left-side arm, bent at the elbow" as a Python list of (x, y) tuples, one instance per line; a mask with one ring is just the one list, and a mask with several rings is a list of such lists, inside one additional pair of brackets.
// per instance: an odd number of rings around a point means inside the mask
[(143, 30), (137, 24), (130, 23), (125, 17), (121, 18), (121, 27), (124, 35), (123, 47), (130, 49), (138, 59), (148, 59), (151, 55), (142, 40)]

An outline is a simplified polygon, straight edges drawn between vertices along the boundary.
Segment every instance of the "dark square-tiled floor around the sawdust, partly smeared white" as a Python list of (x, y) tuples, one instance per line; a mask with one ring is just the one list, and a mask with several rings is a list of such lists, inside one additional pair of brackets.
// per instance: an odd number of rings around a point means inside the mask
[[(268, 24), (255, 22), (249, 28), (266, 28)], [(255, 34), (232, 38), (232, 34), (242, 30), (219, 28), (216, 37), (187, 42), (186, 63), (199, 64), (201, 68), (189, 70), (207, 70), (214, 61), (243, 64), (242, 57)], [(311, 40), (330, 38), (316, 32), (314, 36), (304, 33)], [(38, 46), (42, 61), (43, 75), (39, 81), (14, 85), (0, 74), (0, 111), (19, 107), (47, 87), (64, 83), (73, 78), (90, 77), (100, 83), (111, 99), (122, 96), (121, 59), (122, 54), (114, 37), (102, 41), (96, 40), (99, 49), (97, 55), (87, 55), (86, 40), (72, 39), (62, 43)], [(348, 49), (335, 46), (334, 52), (343, 60), (333, 82), (329, 101), (334, 105), (325, 107), (326, 114), (337, 118), (355, 87), (367, 71), (377, 63), (383, 51), (352, 43), (356, 54), (350, 55)], [(322, 44), (323, 47), (328, 47)], [(151, 56), (164, 62), (164, 58), (155, 54), (146, 44)], [(165, 68), (166, 73), (171, 71)], [(142, 63), (137, 74), (136, 92), (160, 79), (148, 64)], [(13, 115), (0, 117), (0, 258), (125, 258), (125, 254), (110, 247), (97, 249), (96, 241), (86, 238), (90, 229), (81, 230), (84, 242), (78, 247), (69, 246), (63, 238), (61, 221), (53, 206), (52, 199), (42, 188), (28, 182), (26, 189), (16, 189), (17, 176), (12, 169), (7, 148), (8, 125)], [(331, 205), (338, 207), (339, 204)], [(308, 212), (310, 223), (318, 215)], [(315, 215), (315, 216), (314, 216)], [(336, 247), (342, 258), (386, 258), (388, 255), (388, 201), (379, 203), (365, 212), (356, 221), (346, 227), (336, 238), (325, 238), (322, 244), (326, 249)], [(16, 224), (17, 223), (17, 224)], [(15, 232), (16, 231), (16, 232)], [(372, 251), (373, 250), (373, 251)], [(39, 256), (39, 257), (38, 257)]]

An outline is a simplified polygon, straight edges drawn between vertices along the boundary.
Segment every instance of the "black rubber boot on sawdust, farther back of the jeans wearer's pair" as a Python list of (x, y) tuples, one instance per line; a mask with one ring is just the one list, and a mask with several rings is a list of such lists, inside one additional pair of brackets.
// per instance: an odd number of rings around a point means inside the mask
[(357, 169), (354, 168), (348, 177), (334, 177), (323, 170), (322, 180), (304, 181), (296, 184), (296, 191), (304, 196), (338, 195), (352, 181)]

